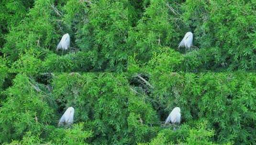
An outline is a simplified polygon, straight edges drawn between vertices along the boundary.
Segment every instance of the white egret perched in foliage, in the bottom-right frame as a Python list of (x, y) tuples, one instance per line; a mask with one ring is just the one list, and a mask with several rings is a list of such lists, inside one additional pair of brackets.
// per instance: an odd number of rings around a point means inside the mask
[[(167, 117), (165, 124), (168, 123), (172, 123), (172, 124), (180, 124), (180, 108), (179, 107), (175, 107), (172, 112), (169, 114), (169, 116)], [(174, 130), (176, 130), (176, 128), (174, 127)]]

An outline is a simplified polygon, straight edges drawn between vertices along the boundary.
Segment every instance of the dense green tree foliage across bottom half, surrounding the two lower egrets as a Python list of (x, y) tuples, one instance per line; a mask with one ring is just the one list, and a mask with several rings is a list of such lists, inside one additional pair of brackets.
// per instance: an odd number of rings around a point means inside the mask
[[(256, 143), (255, 73), (1, 74), (1, 144)], [(74, 124), (58, 127), (70, 106)]]

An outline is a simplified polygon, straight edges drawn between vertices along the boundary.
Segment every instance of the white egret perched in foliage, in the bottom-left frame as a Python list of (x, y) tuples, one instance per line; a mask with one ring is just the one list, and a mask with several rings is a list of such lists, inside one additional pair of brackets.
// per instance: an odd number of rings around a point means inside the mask
[(71, 125), (73, 124), (73, 119), (74, 119), (74, 113), (75, 109), (73, 107), (68, 107), (65, 113), (61, 116), (58, 125)]

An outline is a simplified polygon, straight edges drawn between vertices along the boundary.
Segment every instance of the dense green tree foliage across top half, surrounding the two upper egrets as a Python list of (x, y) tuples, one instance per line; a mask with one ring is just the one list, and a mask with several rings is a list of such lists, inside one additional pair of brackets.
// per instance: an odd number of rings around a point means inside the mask
[[(0, 7), (0, 57), (14, 72), (126, 72), (152, 61), (175, 72), (256, 68), (255, 0), (3, 0)], [(191, 50), (178, 49), (188, 31)], [(71, 46), (56, 52), (65, 33)]]

